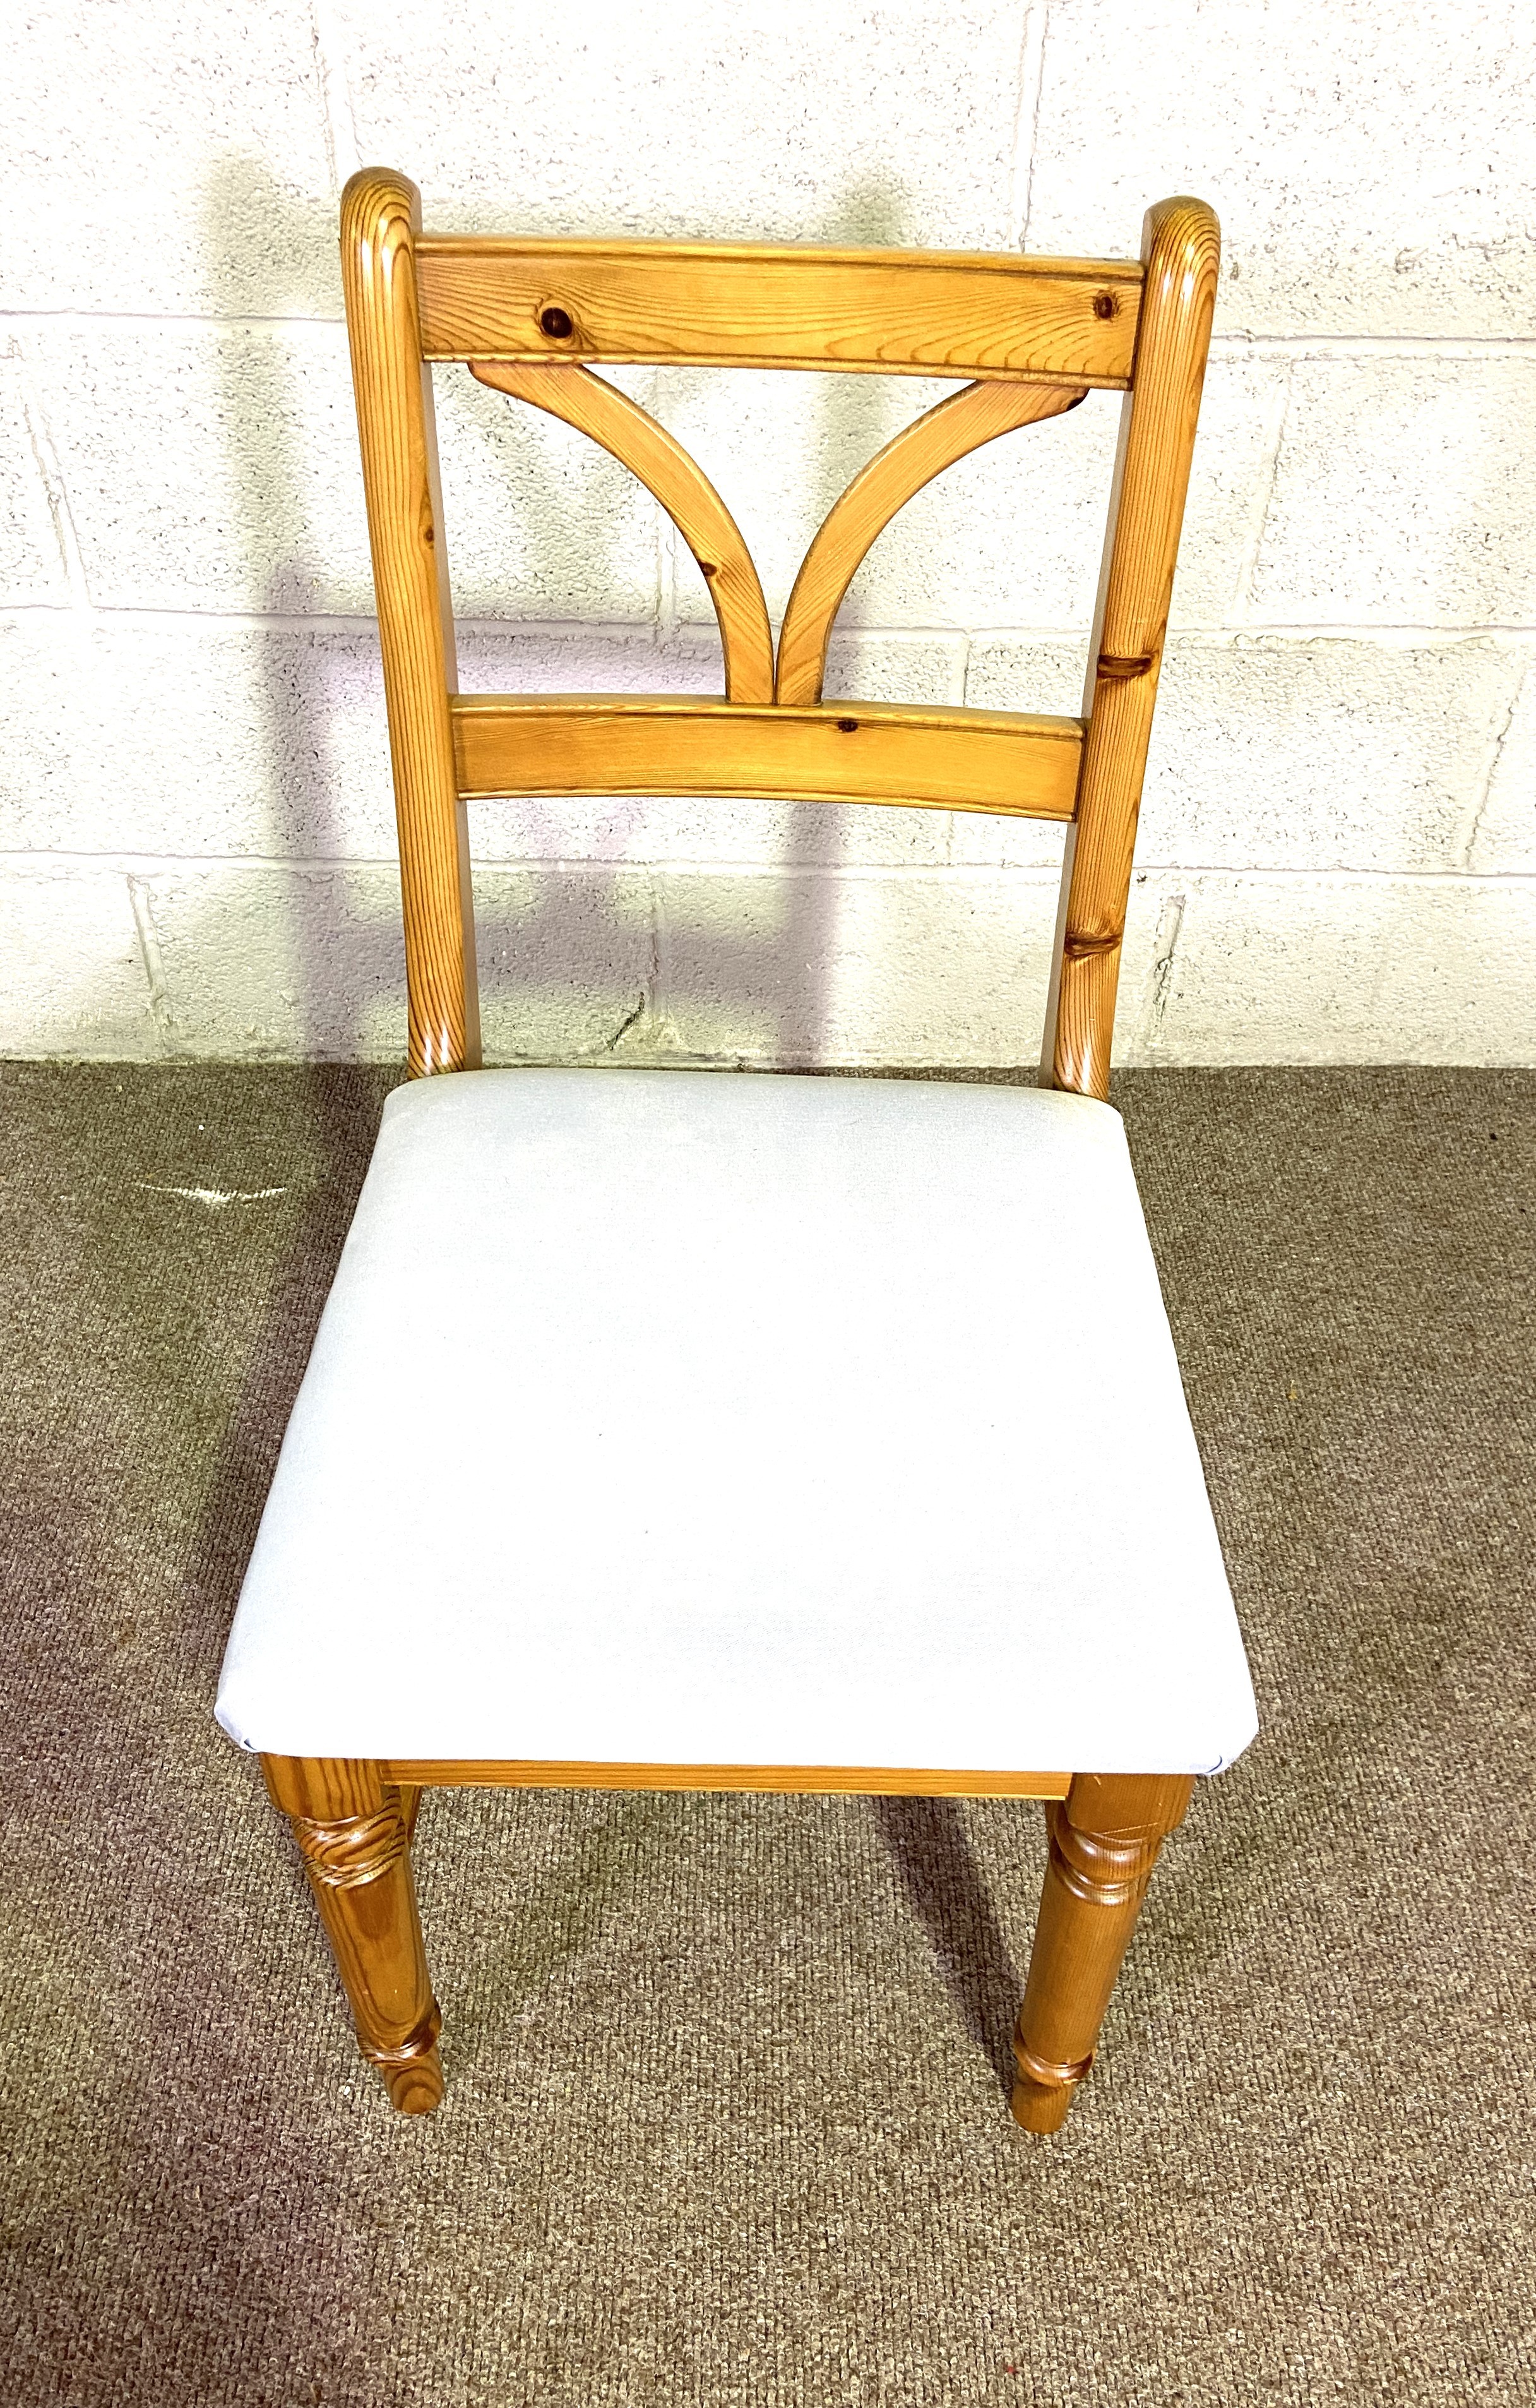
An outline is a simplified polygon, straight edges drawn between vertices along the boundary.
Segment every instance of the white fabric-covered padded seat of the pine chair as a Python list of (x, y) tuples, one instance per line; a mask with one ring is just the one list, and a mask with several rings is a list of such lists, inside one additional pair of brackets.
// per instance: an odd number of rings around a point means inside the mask
[(1211, 1772), (1254, 1698), (1119, 1115), (390, 1096), (219, 1722), (284, 1755)]

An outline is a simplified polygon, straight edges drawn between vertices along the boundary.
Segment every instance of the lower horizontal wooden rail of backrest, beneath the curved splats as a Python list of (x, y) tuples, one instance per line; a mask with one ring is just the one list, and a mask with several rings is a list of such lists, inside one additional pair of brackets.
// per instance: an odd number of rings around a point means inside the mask
[(1071, 819), (1081, 720), (910, 703), (742, 708), (684, 694), (462, 694), (460, 792), (751, 795)]

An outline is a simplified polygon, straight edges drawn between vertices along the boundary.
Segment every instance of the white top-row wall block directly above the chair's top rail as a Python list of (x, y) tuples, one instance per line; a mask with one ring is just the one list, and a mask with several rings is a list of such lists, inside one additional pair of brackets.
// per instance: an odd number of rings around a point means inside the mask
[(361, 152), (438, 229), (1009, 241), (1016, 0), (337, 0)]

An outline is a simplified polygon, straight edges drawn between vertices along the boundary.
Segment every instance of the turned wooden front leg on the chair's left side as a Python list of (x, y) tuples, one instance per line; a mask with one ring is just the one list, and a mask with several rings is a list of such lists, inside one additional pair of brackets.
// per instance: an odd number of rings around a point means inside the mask
[(262, 1770), (294, 1828), (359, 2047), (402, 2114), (429, 2114), (443, 2097), (443, 2015), (412, 1881), (419, 1792), (392, 1789), (366, 1763), (265, 1755)]

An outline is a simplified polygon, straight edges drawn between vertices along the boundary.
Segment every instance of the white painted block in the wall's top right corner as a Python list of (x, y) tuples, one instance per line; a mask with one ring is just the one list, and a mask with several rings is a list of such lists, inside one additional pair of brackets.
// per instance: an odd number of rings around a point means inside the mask
[(1223, 217), (1218, 330), (1524, 335), (1536, 31), (1517, 0), (1052, 0), (1028, 248), (1134, 255)]

